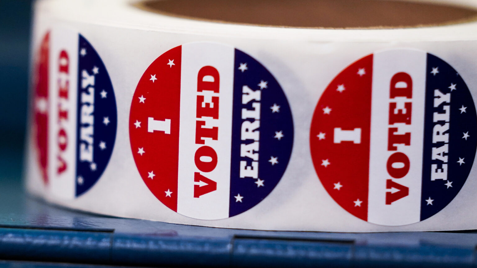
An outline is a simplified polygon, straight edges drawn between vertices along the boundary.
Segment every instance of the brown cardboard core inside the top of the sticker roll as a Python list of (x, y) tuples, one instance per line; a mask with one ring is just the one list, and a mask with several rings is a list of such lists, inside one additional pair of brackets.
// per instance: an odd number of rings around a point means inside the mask
[(196, 20), (300, 28), (409, 28), (477, 17), (467, 7), (398, 0), (145, 0), (138, 6)]

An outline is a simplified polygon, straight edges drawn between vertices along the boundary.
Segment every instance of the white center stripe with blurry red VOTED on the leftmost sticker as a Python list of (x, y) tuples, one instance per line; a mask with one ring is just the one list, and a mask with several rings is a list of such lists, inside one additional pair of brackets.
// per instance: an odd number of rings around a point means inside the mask
[[(58, 29), (52, 32), (50, 36), (51, 51), (50, 62), (50, 81), (52, 81), (52, 92), (50, 102), (57, 103), (50, 105), (50, 122), (58, 122), (58, 124), (50, 124), (50, 133), (56, 135), (49, 136), (49, 172), (48, 177), (56, 178), (51, 180), (51, 188), (53, 195), (62, 198), (73, 198), (75, 195), (75, 170), (74, 165), (76, 148), (68, 144), (67, 136), (76, 132), (76, 117), (68, 120), (64, 119), (64, 113), (75, 111), (77, 108), (76, 92), (70, 91), (70, 85), (76, 85), (78, 76), (74, 75), (78, 72), (78, 34), (67, 29)], [(54, 82), (53, 82), (54, 81)], [(67, 96), (67, 97), (66, 97)], [(62, 113), (63, 112), (63, 113)], [(74, 113), (73, 113), (74, 114)], [(64, 167), (67, 167), (64, 169)], [(69, 167), (69, 168), (68, 168)], [(64, 171), (63, 171), (64, 170)], [(73, 178), (73, 179), (72, 179)]]

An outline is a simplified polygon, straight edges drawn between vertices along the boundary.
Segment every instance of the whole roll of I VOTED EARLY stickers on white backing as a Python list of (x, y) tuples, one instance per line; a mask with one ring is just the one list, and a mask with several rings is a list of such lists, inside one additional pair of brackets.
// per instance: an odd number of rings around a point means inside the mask
[(41, 0), (34, 15), (34, 196), (208, 227), (477, 228), (476, 1)]

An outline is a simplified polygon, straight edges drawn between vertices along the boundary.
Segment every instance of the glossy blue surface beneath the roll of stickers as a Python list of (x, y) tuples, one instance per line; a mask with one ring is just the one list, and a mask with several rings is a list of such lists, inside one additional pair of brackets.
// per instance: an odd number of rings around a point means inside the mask
[(0, 152), (0, 267), (476, 267), (477, 233), (275, 232), (93, 215), (27, 196)]

